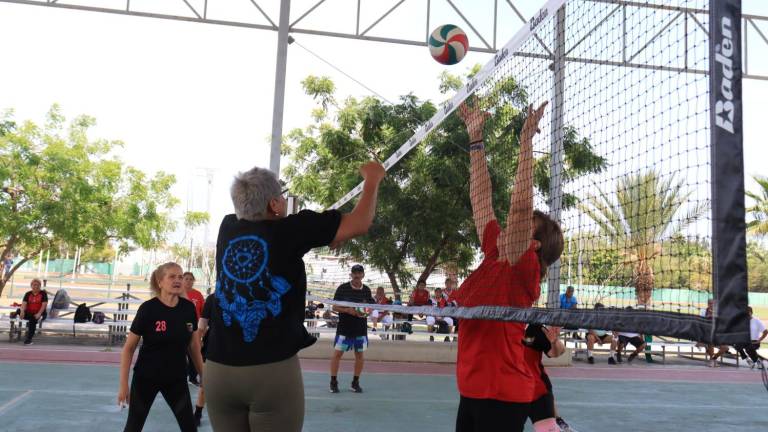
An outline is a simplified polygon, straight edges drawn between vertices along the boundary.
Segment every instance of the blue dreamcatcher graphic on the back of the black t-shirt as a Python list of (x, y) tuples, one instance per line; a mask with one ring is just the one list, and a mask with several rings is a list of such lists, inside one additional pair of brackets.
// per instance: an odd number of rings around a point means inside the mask
[(229, 327), (232, 320), (237, 321), (246, 342), (256, 338), (268, 313), (280, 315), (280, 297), (291, 289), (287, 280), (270, 274), (268, 261), (267, 242), (248, 235), (230, 240), (219, 263), (216, 299), (224, 325)]

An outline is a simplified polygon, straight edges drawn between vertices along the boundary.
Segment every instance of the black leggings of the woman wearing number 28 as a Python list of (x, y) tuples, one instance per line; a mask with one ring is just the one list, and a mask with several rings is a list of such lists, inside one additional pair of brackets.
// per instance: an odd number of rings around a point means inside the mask
[(189, 398), (189, 387), (186, 380), (157, 381), (133, 375), (131, 381), (131, 399), (128, 406), (128, 421), (124, 432), (140, 432), (147, 421), (149, 409), (160, 392), (171, 407), (179, 428), (182, 432), (197, 430), (195, 418), (192, 415), (192, 400)]

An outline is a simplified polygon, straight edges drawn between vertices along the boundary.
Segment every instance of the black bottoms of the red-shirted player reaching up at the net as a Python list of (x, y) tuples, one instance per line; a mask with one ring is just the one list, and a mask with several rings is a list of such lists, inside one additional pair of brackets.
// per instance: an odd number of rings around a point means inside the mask
[(461, 396), (456, 432), (522, 432), (530, 405)]

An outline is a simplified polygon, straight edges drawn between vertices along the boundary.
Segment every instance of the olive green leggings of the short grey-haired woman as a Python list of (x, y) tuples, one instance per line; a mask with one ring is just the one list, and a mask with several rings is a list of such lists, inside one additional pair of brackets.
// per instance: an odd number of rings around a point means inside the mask
[(256, 366), (208, 360), (203, 386), (214, 431), (300, 432), (304, 425), (304, 382), (297, 356)]

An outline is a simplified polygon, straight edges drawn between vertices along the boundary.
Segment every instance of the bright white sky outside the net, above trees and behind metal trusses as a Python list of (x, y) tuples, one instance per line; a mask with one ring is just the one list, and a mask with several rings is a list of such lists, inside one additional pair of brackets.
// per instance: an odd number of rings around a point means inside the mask
[[(60, 3), (73, 3), (61, 0)], [(79, 4), (124, 5), (124, 1), (79, 0)], [(202, 1), (190, 1), (200, 6)], [(276, 22), (279, 2), (258, 2)], [(292, 20), (315, 2), (293, 0)], [(352, 0), (328, 0), (301, 23), (330, 31), (354, 28)], [(371, 23), (394, 0), (363, 0), (362, 21)], [(477, 19), (486, 40), (492, 39), (492, 0), (455, 2)], [(504, 24), (498, 44), (521, 26), (499, 1)], [(531, 16), (540, 0), (514, 2)], [(745, 0), (745, 13), (768, 15), (768, 2)], [(132, 0), (140, 10), (189, 15), (181, 0)], [(425, 32), (424, 0), (409, 0), (382, 21), (373, 35), (419, 38)], [(431, 26), (461, 22), (445, 2), (433, 0)], [(143, 8), (143, 9), (142, 9)], [(370, 8), (370, 9), (366, 9)], [(201, 7), (200, 7), (201, 9)], [(260, 19), (248, 0), (209, 0), (209, 16)], [(245, 18), (243, 18), (245, 17)], [(768, 24), (763, 25), (768, 32)], [(469, 29), (470, 39), (476, 38)], [(378, 32), (378, 33), (377, 33)], [(754, 33), (750, 34), (752, 37)], [(438, 75), (460, 74), (485, 64), (489, 54), (470, 52), (458, 65), (434, 62), (425, 47), (293, 35), (297, 41), (362, 81), (389, 100), (413, 92), (441, 101)], [(276, 33), (256, 29), (61, 10), (0, 2), (0, 111), (13, 109), (17, 120), (40, 122), (53, 103), (68, 118), (88, 114), (97, 119), (94, 138), (125, 143), (119, 157), (147, 172), (163, 170), (177, 178), (173, 192), (187, 208), (205, 210), (205, 175), (213, 175), (210, 236), (221, 217), (232, 211), (228, 188), (233, 176), (269, 164), (269, 136), (275, 79)], [(757, 42), (755, 38), (753, 41)], [(768, 59), (768, 44), (753, 45), (750, 57)], [(755, 63), (757, 64), (757, 63)], [(765, 65), (762, 65), (765, 66)], [(768, 67), (763, 67), (768, 74)], [(337, 85), (337, 99), (370, 93), (297, 45), (289, 46), (283, 132), (311, 122), (312, 99), (300, 82), (307, 75), (326, 75)], [(768, 175), (763, 145), (768, 81), (744, 82), (746, 174)], [(283, 160), (285, 166), (287, 160)], [(747, 187), (753, 187), (751, 182)]]

